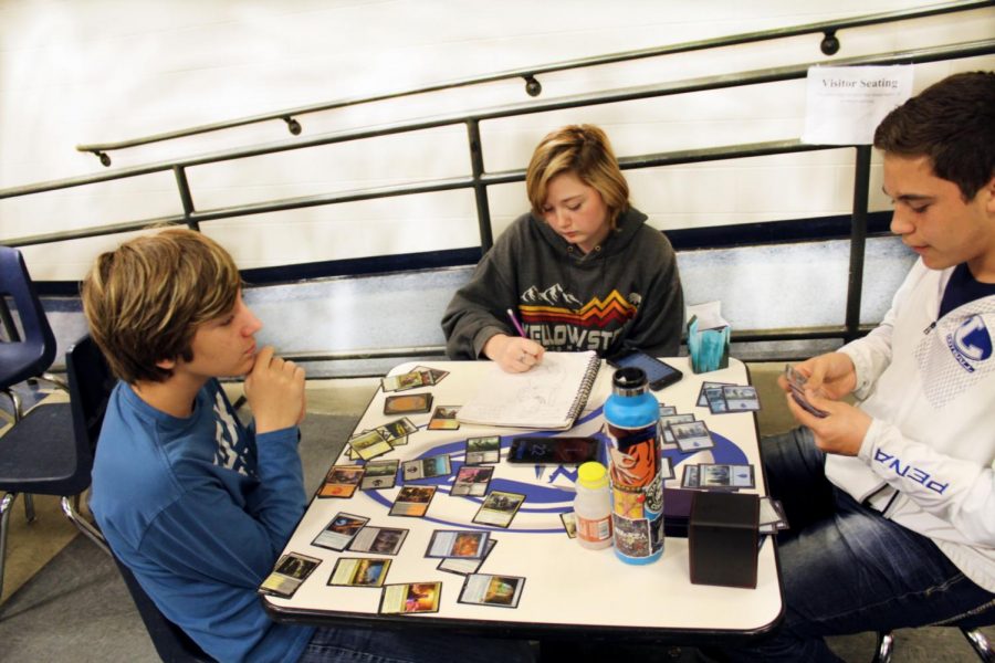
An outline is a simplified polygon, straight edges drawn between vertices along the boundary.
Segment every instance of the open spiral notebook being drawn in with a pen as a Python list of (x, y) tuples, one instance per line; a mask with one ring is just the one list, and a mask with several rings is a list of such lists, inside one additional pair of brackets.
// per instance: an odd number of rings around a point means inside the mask
[(463, 423), (566, 430), (587, 404), (600, 367), (593, 351), (545, 352), (538, 366), (523, 373), (504, 372), (494, 364), (457, 418)]

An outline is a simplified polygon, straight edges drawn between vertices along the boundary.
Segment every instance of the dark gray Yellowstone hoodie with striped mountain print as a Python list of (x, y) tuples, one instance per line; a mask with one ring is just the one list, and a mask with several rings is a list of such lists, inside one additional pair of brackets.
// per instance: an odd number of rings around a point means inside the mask
[(646, 214), (629, 208), (618, 228), (586, 255), (544, 221), (523, 214), (457, 291), (442, 330), (451, 359), (476, 359), (495, 334), (516, 335), (506, 309), (546, 349), (624, 346), (677, 356), (684, 298), (673, 248)]

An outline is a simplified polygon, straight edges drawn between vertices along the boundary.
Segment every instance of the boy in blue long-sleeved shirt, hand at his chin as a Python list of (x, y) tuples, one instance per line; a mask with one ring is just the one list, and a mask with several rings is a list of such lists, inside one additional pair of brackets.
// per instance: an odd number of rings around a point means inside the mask
[[(91, 508), (159, 610), (219, 661), (527, 661), (527, 645), (269, 619), (256, 594), (307, 504), (304, 370), (256, 348), (231, 256), (170, 229), (102, 254), (83, 283), (91, 334), (121, 382)], [(219, 377), (245, 376), (243, 427)], [(486, 652), (486, 653), (484, 653)]]

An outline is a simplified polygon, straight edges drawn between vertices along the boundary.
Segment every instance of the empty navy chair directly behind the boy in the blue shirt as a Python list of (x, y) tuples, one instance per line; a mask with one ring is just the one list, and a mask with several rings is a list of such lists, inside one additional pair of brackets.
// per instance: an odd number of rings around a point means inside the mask
[(80, 494), (90, 487), (96, 435), (114, 380), (88, 337), (70, 348), (65, 368), (70, 402), (39, 403), (0, 438), (0, 491), (6, 492), (0, 501), (0, 591), (10, 507), (19, 493), (61, 496), (66, 517), (109, 554), (104, 537), (77, 508)]

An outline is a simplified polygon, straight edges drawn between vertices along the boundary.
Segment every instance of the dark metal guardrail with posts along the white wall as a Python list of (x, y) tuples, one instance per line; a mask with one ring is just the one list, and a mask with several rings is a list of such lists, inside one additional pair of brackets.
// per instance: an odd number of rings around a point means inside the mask
[[(977, 7), (995, 4), (995, 2), (967, 2), (967, 3), (950, 3), (936, 6), (930, 11), (939, 13), (941, 11), (963, 11), (966, 9), (975, 9)], [(922, 13), (921, 10), (917, 15), (930, 15)], [(850, 25), (868, 24), (879, 21), (884, 15), (899, 15), (901, 20), (910, 18), (910, 13), (915, 12), (891, 12), (891, 14), (874, 14), (862, 19), (849, 19)], [(892, 19), (900, 20), (900, 19)], [(879, 21), (880, 22), (880, 21)], [(839, 25), (842, 22), (836, 22)], [(815, 31), (815, 25), (799, 27), (794, 29), (784, 29), (781, 31), (769, 31), (779, 36), (794, 35), (798, 31)], [(760, 33), (751, 33), (750, 35), (739, 35), (740, 39), (750, 36), (753, 41), (758, 40)], [(755, 39), (754, 39), (755, 38)], [(735, 38), (727, 38), (735, 39)], [(695, 44), (698, 42), (694, 42)], [(727, 42), (741, 43), (741, 42)], [(723, 43), (721, 45), (727, 45)], [(688, 46), (684, 44), (684, 46)], [(681, 48), (672, 46), (673, 49)], [(690, 48), (690, 46), (689, 46)], [(712, 46), (714, 48), (714, 45)], [(640, 52), (641, 53), (641, 52)], [(888, 64), (920, 64), (926, 62), (936, 62), (943, 60), (955, 60), (964, 57), (974, 57), (980, 55), (989, 55), (995, 53), (995, 39), (987, 39), (961, 44), (941, 45), (926, 49), (917, 49), (903, 52), (894, 52), (878, 55), (863, 55), (834, 61), (834, 65), (853, 66), (853, 65), (888, 65)], [(648, 55), (647, 55), (648, 56)], [(614, 57), (614, 56), (607, 56)], [(601, 64), (603, 60), (591, 62), (590, 64)], [(564, 63), (565, 64), (565, 63)], [(808, 69), (814, 64), (821, 63), (804, 63), (794, 64), (782, 67), (768, 67), (763, 70), (739, 72), (732, 74), (705, 76), (693, 80), (668, 82), (656, 85), (645, 85), (638, 87), (627, 87), (619, 90), (604, 91), (599, 93), (575, 95), (549, 101), (533, 101), (527, 103), (512, 104), (495, 108), (474, 110), (469, 113), (455, 113), (449, 115), (440, 115), (428, 119), (405, 120), (390, 125), (374, 128), (354, 129), (328, 134), (324, 136), (311, 137), (306, 139), (283, 140), (266, 145), (252, 146), (247, 148), (230, 149), (224, 151), (212, 152), (196, 157), (187, 157), (138, 166), (133, 168), (124, 168), (118, 170), (105, 171), (97, 175), (75, 177), (49, 182), (41, 182), (24, 187), (14, 187), (0, 190), (0, 199), (15, 198), (21, 196), (30, 196), (46, 191), (55, 191), (70, 189), (74, 187), (83, 187), (97, 182), (106, 182), (118, 179), (127, 179), (142, 177), (156, 172), (172, 171), (177, 185), (177, 192), (182, 206), (182, 213), (155, 219), (143, 219), (136, 221), (126, 221), (114, 224), (106, 224), (83, 230), (61, 231), (52, 233), (41, 233), (30, 236), (14, 238), (3, 243), (11, 246), (28, 246), (36, 244), (45, 244), (51, 242), (61, 242), (66, 240), (75, 240), (83, 238), (92, 238), (98, 235), (116, 234), (142, 230), (153, 224), (186, 224), (192, 229), (199, 229), (203, 222), (214, 221), (219, 219), (230, 219), (234, 217), (247, 217), (253, 214), (304, 209), (316, 206), (327, 206), (335, 203), (353, 202), (359, 200), (369, 200), (376, 198), (410, 196), (416, 193), (428, 193), (437, 191), (448, 191), (455, 189), (473, 189), (476, 201), (478, 224), (480, 231), (480, 245), (483, 251), (490, 249), (493, 244), (491, 232), (490, 208), (488, 203), (486, 189), (490, 186), (521, 182), (525, 180), (524, 169), (507, 170), (501, 172), (485, 172), (483, 167), (483, 146), (480, 135), (480, 123), (484, 120), (493, 120), (506, 117), (531, 115), (537, 113), (548, 113), (553, 110), (563, 110), (569, 108), (578, 108), (585, 106), (594, 106), (600, 104), (611, 104), (619, 102), (629, 102), (637, 99), (646, 99), (653, 97), (663, 97), (669, 95), (680, 95), (692, 92), (702, 92), (711, 90), (723, 90), (730, 87), (743, 87), (748, 85), (758, 85), (773, 82), (792, 81), (804, 78)], [(549, 65), (553, 66), (553, 65)], [(579, 66), (579, 65), (577, 65)], [(536, 70), (537, 71), (537, 70)], [(552, 71), (552, 70), (551, 70)], [(413, 93), (411, 93), (413, 94)], [(370, 99), (367, 99), (370, 101)], [(358, 102), (357, 102), (358, 103)], [(222, 123), (223, 124), (223, 123)], [(338, 143), (347, 143), (362, 140), (365, 138), (399, 135), (437, 127), (464, 125), (468, 137), (468, 149), (470, 152), (471, 173), (467, 177), (455, 177), (442, 180), (416, 181), (405, 185), (390, 187), (369, 188), (356, 191), (345, 191), (336, 193), (325, 193), (317, 196), (286, 198), (279, 200), (269, 200), (260, 203), (250, 203), (241, 206), (232, 206), (224, 208), (198, 210), (193, 204), (193, 196), (187, 181), (187, 169), (203, 166), (208, 164), (218, 164), (222, 161), (231, 161), (238, 159), (247, 159), (263, 155), (308, 149), (320, 146), (326, 146)], [(214, 126), (214, 125), (211, 125)], [(232, 125), (234, 126), (234, 125)], [(693, 149), (685, 151), (674, 151), (667, 154), (651, 154), (641, 156), (630, 156), (619, 159), (622, 169), (638, 169), (660, 166), (672, 166), (680, 164), (692, 164), (712, 160), (726, 160), (750, 158), (764, 155), (789, 154), (820, 149), (839, 149), (845, 146), (819, 146), (805, 145), (797, 140), (772, 141), (753, 145), (735, 145), (720, 146), (704, 149)], [(866, 329), (861, 328), (859, 323), (861, 285), (863, 274), (863, 252), (867, 239), (867, 215), (868, 215), (868, 185), (871, 150), (868, 146), (851, 146), (855, 149), (855, 187), (853, 187), (853, 204), (850, 228), (850, 265), (849, 281), (847, 292), (847, 305), (845, 324), (841, 326), (816, 328), (794, 328), (794, 329), (769, 329), (769, 330), (743, 330), (733, 335), (735, 341), (752, 340), (790, 340), (790, 339), (818, 339), (818, 338), (842, 338), (845, 340), (860, 336)], [(399, 356), (433, 356), (441, 354), (439, 347), (421, 348), (389, 348), (389, 349), (370, 349), (370, 350), (350, 350), (346, 352), (316, 352), (316, 354), (298, 354), (297, 358), (306, 360), (322, 359), (369, 359)], [(404, 354), (399, 354), (404, 352)]]

